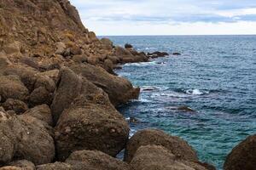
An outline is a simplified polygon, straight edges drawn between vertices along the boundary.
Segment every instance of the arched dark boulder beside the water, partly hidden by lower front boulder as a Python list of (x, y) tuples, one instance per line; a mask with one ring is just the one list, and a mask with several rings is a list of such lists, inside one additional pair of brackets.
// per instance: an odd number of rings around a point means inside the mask
[(139, 131), (131, 137), (125, 149), (125, 161), (130, 162), (137, 149), (148, 144), (164, 146), (179, 159), (198, 161), (195, 150), (186, 141), (154, 129)]

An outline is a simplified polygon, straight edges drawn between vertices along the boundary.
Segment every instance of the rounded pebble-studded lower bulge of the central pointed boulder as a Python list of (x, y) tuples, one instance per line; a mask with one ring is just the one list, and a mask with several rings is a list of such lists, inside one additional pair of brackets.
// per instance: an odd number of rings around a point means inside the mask
[[(99, 97), (101, 101), (102, 97)], [(81, 100), (81, 99), (79, 99)], [(129, 137), (129, 126), (112, 106), (74, 105), (63, 111), (55, 127), (56, 150), (63, 160), (75, 150), (101, 150), (116, 156), (123, 150)]]

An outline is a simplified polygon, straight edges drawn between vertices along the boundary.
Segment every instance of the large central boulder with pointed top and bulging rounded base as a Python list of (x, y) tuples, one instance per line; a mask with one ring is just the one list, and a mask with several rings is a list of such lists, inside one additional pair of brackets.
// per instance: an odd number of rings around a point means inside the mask
[(55, 141), (59, 159), (75, 150), (102, 150), (116, 156), (125, 147), (129, 127), (108, 94), (67, 68), (60, 71), (57, 84), (51, 108), (58, 120)]

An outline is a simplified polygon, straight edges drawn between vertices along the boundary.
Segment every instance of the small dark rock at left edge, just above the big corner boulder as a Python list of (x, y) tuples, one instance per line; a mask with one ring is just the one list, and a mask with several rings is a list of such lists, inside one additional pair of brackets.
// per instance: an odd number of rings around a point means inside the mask
[(5, 111), (15, 111), (17, 114), (22, 114), (28, 110), (26, 103), (19, 99), (7, 99), (2, 106)]

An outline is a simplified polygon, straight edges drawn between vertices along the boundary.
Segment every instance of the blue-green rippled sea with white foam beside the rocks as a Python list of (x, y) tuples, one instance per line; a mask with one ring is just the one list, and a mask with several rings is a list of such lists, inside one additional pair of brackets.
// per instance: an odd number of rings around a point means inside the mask
[(108, 38), (139, 51), (182, 54), (117, 71), (142, 88), (140, 99), (119, 108), (126, 119), (139, 121), (130, 124), (131, 135), (160, 128), (187, 140), (201, 161), (222, 169), (236, 144), (256, 133), (256, 36)]

